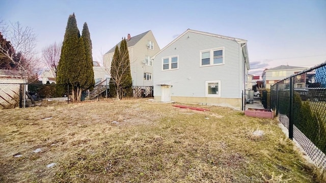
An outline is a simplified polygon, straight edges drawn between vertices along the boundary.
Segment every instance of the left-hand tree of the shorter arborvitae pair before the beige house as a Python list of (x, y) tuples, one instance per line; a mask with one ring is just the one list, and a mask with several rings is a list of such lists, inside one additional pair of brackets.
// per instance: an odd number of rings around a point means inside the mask
[[(110, 96), (117, 97), (120, 99), (120, 96), (117, 96), (117, 81), (119, 80), (119, 60), (120, 60), (120, 51), (118, 45), (114, 51), (112, 63), (111, 63), (111, 78), (110, 78)], [(118, 81), (119, 82), (119, 81)]]

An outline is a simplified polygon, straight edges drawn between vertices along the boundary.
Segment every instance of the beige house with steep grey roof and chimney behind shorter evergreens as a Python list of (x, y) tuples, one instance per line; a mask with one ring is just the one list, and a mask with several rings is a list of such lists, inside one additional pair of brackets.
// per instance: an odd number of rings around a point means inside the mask
[[(153, 85), (153, 62), (151, 56), (160, 49), (152, 31), (131, 37), (127, 35), (127, 46), (130, 59), (130, 72), (133, 86)], [(120, 43), (118, 46), (120, 47)], [(112, 58), (116, 46), (104, 54), (104, 67), (111, 70)]]

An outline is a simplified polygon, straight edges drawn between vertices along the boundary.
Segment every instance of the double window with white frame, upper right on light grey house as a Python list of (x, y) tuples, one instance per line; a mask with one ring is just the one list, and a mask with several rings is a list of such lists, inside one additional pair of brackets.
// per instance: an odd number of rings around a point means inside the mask
[(224, 48), (205, 50), (200, 52), (200, 66), (224, 64)]

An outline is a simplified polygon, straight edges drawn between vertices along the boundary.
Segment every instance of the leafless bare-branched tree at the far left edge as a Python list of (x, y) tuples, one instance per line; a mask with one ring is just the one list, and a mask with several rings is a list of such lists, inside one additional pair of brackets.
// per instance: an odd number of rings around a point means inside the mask
[(6, 24), (1, 21), (0, 33), (4, 33), (4, 36), (0, 34), (1, 59), (8, 62), (8, 67), (3, 69), (16, 71), (19, 77), (28, 79), (28, 82), (35, 81), (38, 78), (39, 60), (35, 52), (36, 35), (33, 29), (29, 26), (23, 27), (19, 22)]

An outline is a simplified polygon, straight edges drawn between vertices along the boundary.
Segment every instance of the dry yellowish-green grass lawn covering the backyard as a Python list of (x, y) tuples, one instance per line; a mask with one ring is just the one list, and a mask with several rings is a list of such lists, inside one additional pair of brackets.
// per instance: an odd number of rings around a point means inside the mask
[(276, 119), (199, 107), (210, 111), (145, 99), (0, 110), (0, 182), (318, 181)]

